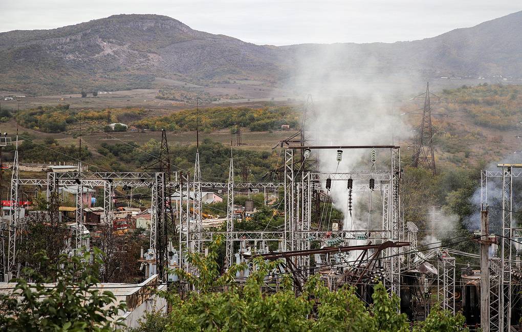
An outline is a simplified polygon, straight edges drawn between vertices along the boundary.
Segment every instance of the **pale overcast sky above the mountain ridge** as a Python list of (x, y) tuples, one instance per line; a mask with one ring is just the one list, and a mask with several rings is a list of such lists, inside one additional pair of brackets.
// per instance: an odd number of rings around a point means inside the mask
[(160, 14), (256, 44), (395, 42), (522, 10), (519, 0), (3, 0), (0, 31), (52, 29), (114, 14)]

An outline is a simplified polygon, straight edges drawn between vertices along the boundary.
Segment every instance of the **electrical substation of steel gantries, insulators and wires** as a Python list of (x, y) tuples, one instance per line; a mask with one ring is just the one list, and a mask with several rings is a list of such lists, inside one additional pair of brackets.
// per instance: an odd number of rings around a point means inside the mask
[[(414, 152), (414, 165), (425, 165), (435, 173), (430, 99), (426, 88), (421, 130)], [(247, 263), (238, 271), (236, 280), (244, 282), (255, 269), (254, 257), (279, 260), (279, 268), (267, 276), (267, 290), (279, 287), (280, 278), (288, 273), (294, 290), (300, 292), (304, 282), (319, 274), (326, 286), (336, 290), (345, 285), (357, 289), (358, 295), (371, 302), (373, 285), (381, 281), (389, 292), (400, 297), (401, 312), (412, 320), (423, 320), (430, 307), (441, 303), (444, 309), (462, 311), (469, 326), (482, 331), (511, 331), (520, 318), (522, 285), (522, 229), (513, 217), (515, 206), (513, 183), (522, 178), (522, 164), (498, 164), (495, 170), (482, 172), (482, 211), (480, 229), (469, 232), (464, 241), (480, 246), (480, 255), (457, 251), (441, 242), (418, 239), (419, 229), (413, 222), (404, 222), (402, 214), (401, 148), (396, 145), (350, 145), (335, 142), (318, 145), (314, 133), (307, 132), (307, 123), (316, 114), (311, 97), (306, 102), (302, 129), (276, 147), (283, 156), (283, 165), (274, 171), (272, 181), (239, 182), (234, 180), (234, 156), (231, 149), (227, 182), (207, 182), (201, 177), (199, 150), (191, 173), (173, 171), (167, 141), (162, 132), (158, 161), (144, 172), (89, 172), (78, 164), (77, 171), (49, 172), (46, 179), (23, 179), (19, 176), (18, 149), (15, 150), (10, 181), (9, 214), (2, 215), (2, 279), (7, 282), (19, 276), (21, 263), (17, 245), (23, 236), (26, 218), (21, 213), (20, 187), (33, 186), (45, 192), (48, 200), (56, 199), (61, 187), (77, 189), (75, 222), (71, 227), (68, 253), (89, 250), (89, 236), (83, 211), (84, 188), (103, 189), (102, 222), (112, 225), (115, 219), (114, 191), (125, 188), (147, 188), (150, 192), (151, 219), (147, 230), (149, 246), (141, 252), (139, 262), (146, 278), (159, 278), (173, 287), (180, 268), (197, 274), (186, 257), (187, 252), (205, 254), (208, 243), (221, 234), (225, 242), (223, 269), (232, 264)], [(238, 134), (239, 137), (239, 134)], [(18, 139), (16, 139), (18, 141)], [(241, 143), (238, 138), (238, 145)], [(1, 137), (0, 146), (10, 146), (10, 137)], [(338, 171), (353, 151), (366, 156), (358, 167)], [(1, 152), (0, 152), (1, 153)], [(337, 169), (329, 169), (320, 160), (331, 156)], [(343, 170), (346, 168), (343, 167)], [(277, 181), (276, 181), (277, 180)], [(491, 186), (498, 191), (488, 191)], [(202, 193), (220, 190), (227, 203), (221, 230), (208, 227), (203, 214)], [(279, 197), (274, 214), (284, 217), (278, 230), (242, 231), (234, 227), (238, 219), (234, 196), (238, 191), (258, 191)], [(346, 201), (344, 219), (331, 222), (331, 209), (342, 192)], [(176, 199), (172, 199), (176, 197)], [(132, 198), (131, 198), (132, 199)], [(488, 203), (502, 202), (500, 231), (490, 231)], [(364, 211), (359, 205), (364, 203)], [(50, 218), (58, 218), (50, 216)], [(477, 223), (479, 220), (477, 220)], [(460, 268), (456, 257), (480, 258), (480, 269)]]

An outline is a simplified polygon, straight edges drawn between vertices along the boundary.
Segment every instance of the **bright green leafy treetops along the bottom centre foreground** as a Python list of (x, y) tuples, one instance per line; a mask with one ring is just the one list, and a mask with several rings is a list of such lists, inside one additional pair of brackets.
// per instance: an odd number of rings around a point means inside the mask
[[(215, 238), (207, 257), (187, 255), (197, 274), (176, 270), (175, 273), (192, 289), (183, 294), (163, 292), (172, 312), (165, 317), (156, 313), (150, 322), (141, 322), (132, 332), (164, 330), (185, 331), (313, 331), (313, 332), (407, 332), (409, 323), (405, 314), (398, 313), (400, 300), (388, 294), (382, 283), (374, 285), (373, 304), (359, 299), (354, 288), (343, 287), (330, 291), (319, 275), (307, 280), (300, 294), (295, 293), (292, 279), (282, 275), (276, 292), (265, 292), (273, 287), (268, 278), (278, 271), (279, 261), (266, 262), (254, 257), (251, 274), (239, 287), (234, 282), (236, 271), (245, 265), (233, 265), (219, 275), (217, 250), (222, 237)], [(416, 332), (467, 331), (464, 317), (434, 310), (425, 324), (416, 326)], [(148, 328), (148, 329), (147, 329)]]

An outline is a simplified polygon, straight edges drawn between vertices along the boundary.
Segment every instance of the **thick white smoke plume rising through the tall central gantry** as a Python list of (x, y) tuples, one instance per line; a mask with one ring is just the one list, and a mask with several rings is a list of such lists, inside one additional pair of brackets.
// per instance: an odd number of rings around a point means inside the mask
[[(338, 45), (309, 45), (304, 49), (297, 57), (289, 85), (303, 96), (307, 93), (313, 96), (317, 118), (306, 131), (314, 145), (390, 145), (413, 135), (406, 119), (394, 114), (393, 108), (397, 109), (400, 100), (419, 90), (422, 80), (418, 75), (384, 71), (376, 58), (359, 60), (354, 68)], [(386, 152), (377, 157), (381, 169), (389, 169), (389, 152)], [(370, 150), (345, 150), (339, 165), (335, 149), (322, 150), (316, 156), (322, 171), (348, 172), (355, 168), (370, 169), (370, 153)], [(331, 197), (335, 207), (345, 212), (343, 229), (370, 228), (367, 212), (355, 214), (353, 220), (348, 218), (346, 183), (334, 181)], [(367, 197), (354, 196), (354, 205)]]

